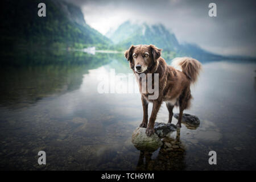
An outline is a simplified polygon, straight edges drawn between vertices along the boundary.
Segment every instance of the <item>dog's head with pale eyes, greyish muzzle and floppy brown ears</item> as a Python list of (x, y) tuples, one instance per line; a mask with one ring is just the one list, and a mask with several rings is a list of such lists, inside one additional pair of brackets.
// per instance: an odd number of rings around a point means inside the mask
[(161, 56), (162, 49), (154, 45), (131, 46), (125, 51), (127, 61), (130, 61), (131, 69), (137, 73), (143, 73), (152, 68)]

